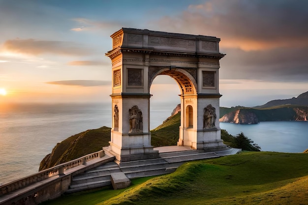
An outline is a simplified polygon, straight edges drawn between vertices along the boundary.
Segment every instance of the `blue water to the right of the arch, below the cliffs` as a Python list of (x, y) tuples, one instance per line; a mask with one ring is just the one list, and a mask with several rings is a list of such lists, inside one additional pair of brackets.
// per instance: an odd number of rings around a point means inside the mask
[(303, 152), (308, 149), (308, 121), (273, 121), (259, 124), (219, 123), (235, 136), (243, 132), (262, 151)]

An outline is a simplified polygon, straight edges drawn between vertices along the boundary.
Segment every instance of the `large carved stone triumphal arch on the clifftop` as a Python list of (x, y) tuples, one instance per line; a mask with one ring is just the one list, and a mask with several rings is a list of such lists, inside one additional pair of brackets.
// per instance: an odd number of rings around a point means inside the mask
[[(178, 146), (224, 147), (219, 128), (219, 38), (122, 28), (111, 35), (112, 129), (119, 162), (158, 158), (151, 146), (150, 88), (158, 75), (181, 90)], [(161, 90), (163, 92), (163, 90)]]

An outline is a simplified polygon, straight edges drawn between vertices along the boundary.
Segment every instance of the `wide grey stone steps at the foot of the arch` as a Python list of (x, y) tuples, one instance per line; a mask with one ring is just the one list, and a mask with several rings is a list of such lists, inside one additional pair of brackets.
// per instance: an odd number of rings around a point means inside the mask
[(122, 172), (129, 179), (158, 176), (175, 172), (179, 166), (187, 161), (216, 158), (235, 154), (238, 151), (240, 149), (234, 148), (216, 152), (206, 152), (205, 150), (172, 151), (159, 153), (161, 158), (157, 159), (122, 162), (120, 165), (115, 162), (109, 162), (85, 173), (72, 176), (71, 185), (66, 193), (111, 185), (113, 173)]

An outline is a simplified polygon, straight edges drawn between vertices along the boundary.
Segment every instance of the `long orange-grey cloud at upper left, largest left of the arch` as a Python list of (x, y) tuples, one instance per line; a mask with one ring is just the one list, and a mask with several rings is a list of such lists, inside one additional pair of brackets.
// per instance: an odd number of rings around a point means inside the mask
[(57, 54), (69, 56), (81, 56), (89, 54), (90, 50), (83, 46), (67, 41), (48, 41), (35, 39), (14, 39), (7, 40), (3, 48), (8, 52), (27, 55)]

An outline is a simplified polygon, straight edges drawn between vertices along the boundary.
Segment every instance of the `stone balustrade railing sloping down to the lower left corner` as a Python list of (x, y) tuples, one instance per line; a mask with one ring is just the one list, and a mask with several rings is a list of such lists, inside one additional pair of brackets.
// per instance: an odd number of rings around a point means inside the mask
[(78, 159), (71, 160), (69, 162), (62, 163), (60, 165), (57, 165), (55, 167), (42, 170), (36, 174), (26, 176), (24, 178), (3, 184), (0, 186), (0, 197), (8, 194), (10, 192), (13, 192), (18, 189), (22, 189), (26, 186), (29, 186), (33, 183), (42, 181), (44, 179), (50, 178), (50, 177), (56, 177), (59, 175), (63, 175), (64, 171), (72, 169), (74, 167), (77, 167), (79, 165), (85, 165), (87, 162), (92, 161), (96, 158), (101, 158), (104, 156), (104, 151), (100, 150), (85, 156), (82, 156)]

